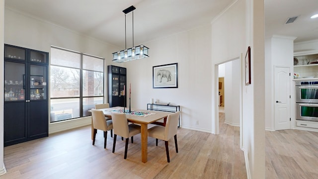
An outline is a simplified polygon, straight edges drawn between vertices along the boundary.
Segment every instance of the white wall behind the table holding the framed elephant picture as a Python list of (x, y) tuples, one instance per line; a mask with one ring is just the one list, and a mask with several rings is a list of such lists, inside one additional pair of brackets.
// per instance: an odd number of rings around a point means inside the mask
[[(181, 127), (211, 132), (211, 26), (144, 45), (150, 48), (150, 57), (126, 63), (132, 107), (146, 109), (150, 98), (179, 104)], [(178, 63), (178, 88), (153, 89), (153, 66), (171, 63)]]

